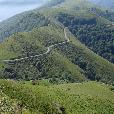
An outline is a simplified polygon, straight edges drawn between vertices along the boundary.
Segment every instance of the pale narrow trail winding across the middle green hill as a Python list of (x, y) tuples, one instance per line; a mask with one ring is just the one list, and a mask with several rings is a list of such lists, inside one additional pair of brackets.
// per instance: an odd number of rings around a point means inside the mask
[(47, 47), (47, 51), (45, 53), (34, 55), (34, 56), (30, 56), (30, 57), (24, 57), (24, 58), (20, 58), (20, 59), (2, 60), (2, 61), (3, 62), (19, 62), (19, 61), (26, 60), (26, 59), (29, 59), (29, 58), (35, 58), (35, 57), (40, 57), (40, 56), (43, 56), (43, 55), (47, 55), (48, 53), (50, 53), (50, 51), (52, 50), (53, 47), (58, 46), (58, 45), (62, 45), (62, 44), (66, 44), (66, 43), (70, 42), (70, 39), (68, 38), (68, 36), (66, 34), (66, 28), (64, 28), (64, 39), (65, 39), (65, 41), (63, 41), (63, 42), (48, 46)]

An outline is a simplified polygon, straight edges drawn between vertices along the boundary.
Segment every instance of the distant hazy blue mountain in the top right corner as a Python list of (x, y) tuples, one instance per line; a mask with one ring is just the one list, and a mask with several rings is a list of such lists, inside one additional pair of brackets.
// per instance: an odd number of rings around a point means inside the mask
[(114, 10), (114, 0), (89, 0), (99, 6), (102, 6), (104, 8), (112, 9)]

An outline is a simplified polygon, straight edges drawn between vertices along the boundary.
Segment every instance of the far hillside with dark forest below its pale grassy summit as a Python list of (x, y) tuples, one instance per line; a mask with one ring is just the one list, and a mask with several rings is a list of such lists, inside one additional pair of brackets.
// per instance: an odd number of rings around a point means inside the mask
[(82, 2), (66, 0), (53, 10), (44, 8), (40, 12), (59, 20), (92, 51), (114, 63), (114, 13)]

